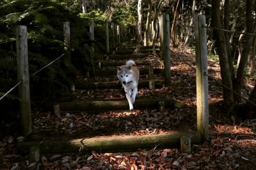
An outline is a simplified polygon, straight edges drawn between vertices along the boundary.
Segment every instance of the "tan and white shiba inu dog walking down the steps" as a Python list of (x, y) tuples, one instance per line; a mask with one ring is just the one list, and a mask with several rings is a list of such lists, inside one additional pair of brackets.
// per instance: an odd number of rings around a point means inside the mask
[(131, 111), (138, 92), (140, 71), (136, 67), (135, 62), (130, 59), (125, 65), (117, 66), (117, 77), (122, 83)]

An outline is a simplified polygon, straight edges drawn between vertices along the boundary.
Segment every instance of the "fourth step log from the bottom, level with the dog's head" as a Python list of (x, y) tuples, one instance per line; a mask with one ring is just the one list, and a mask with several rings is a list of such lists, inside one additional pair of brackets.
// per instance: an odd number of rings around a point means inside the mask
[[(152, 69), (154, 74), (159, 74), (159, 73), (163, 74), (163, 71), (164, 71), (162, 68), (152, 68)], [(116, 75), (116, 70), (117, 70), (116, 67), (108, 70), (95, 70), (95, 75), (97, 76)], [(148, 74), (149, 68), (139, 68), (139, 70), (140, 70), (140, 75)], [(90, 75), (94, 75), (93, 70), (90, 70)]]

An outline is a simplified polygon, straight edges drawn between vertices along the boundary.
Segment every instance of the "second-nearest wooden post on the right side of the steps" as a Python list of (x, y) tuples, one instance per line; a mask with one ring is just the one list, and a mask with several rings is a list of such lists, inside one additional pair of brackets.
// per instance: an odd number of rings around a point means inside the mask
[(163, 39), (163, 58), (164, 58), (164, 84), (168, 85), (170, 83), (170, 66), (171, 66), (171, 57), (170, 57), (170, 21), (169, 15), (166, 13), (162, 14), (161, 23), (163, 24), (163, 30), (161, 31), (161, 39)]

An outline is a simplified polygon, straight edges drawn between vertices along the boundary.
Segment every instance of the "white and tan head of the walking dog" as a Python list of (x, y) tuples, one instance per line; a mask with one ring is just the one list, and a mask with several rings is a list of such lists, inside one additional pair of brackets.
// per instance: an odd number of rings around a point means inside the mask
[(133, 78), (132, 66), (117, 66), (117, 77), (124, 85), (131, 82)]

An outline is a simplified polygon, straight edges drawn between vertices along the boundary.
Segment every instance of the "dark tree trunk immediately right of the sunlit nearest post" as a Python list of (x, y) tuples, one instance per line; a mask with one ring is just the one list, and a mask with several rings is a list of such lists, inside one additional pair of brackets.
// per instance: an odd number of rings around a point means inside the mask
[[(212, 26), (221, 28), (221, 18), (220, 18), (220, 1), (212, 1)], [(230, 89), (233, 89), (232, 86), (232, 75), (228, 63), (228, 49), (225, 34), (223, 31), (214, 30), (214, 37), (216, 39), (216, 44), (218, 47), (218, 53), (220, 58), (220, 67), (221, 67), (221, 78), (222, 83), (225, 84)], [(232, 113), (234, 107), (234, 95), (232, 91), (223, 87), (223, 100), (224, 108), (227, 114)]]

